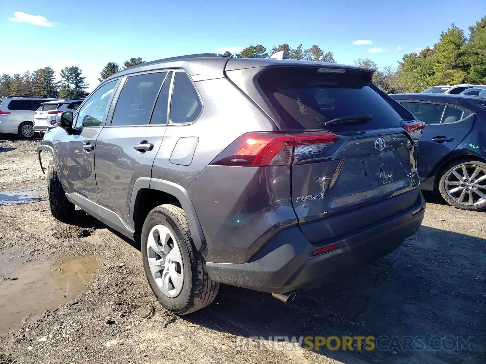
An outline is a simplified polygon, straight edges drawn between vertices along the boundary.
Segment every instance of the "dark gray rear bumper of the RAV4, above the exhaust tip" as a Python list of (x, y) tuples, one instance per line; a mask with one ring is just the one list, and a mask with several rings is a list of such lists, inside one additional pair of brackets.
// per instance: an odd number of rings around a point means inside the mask
[[(318, 246), (293, 226), (275, 235), (248, 263), (208, 262), (206, 267), (214, 281), (263, 292), (317, 288), (398, 248), (418, 230), (424, 211), (425, 200), (420, 193), (416, 203), (407, 210), (320, 242), (319, 246), (338, 243), (338, 248), (328, 253), (312, 256)], [(342, 223), (346, 224), (346, 218)]]

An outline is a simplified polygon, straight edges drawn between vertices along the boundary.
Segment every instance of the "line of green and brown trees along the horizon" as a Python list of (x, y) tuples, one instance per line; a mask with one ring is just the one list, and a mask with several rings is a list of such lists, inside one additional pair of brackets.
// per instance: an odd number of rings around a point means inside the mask
[[(334, 53), (324, 51), (313, 45), (309, 49), (299, 44), (292, 48), (283, 43), (269, 50), (262, 44), (251, 45), (241, 52), (224, 53), (227, 57), (236, 58), (268, 58), (273, 53), (285, 50), (287, 58), (315, 62), (335, 63)], [(140, 57), (133, 57), (120, 66), (108, 62), (100, 72), (98, 81), (102, 82), (112, 74), (144, 63)], [(486, 84), (486, 16), (469, 27), (469, 34), (454, 24), (440, 33), (438, 42), (431, 48), (427, 47), (417, 52), (404, 54), (397, 67), (379, 66), (369, 58), (354, 60), (355, 66), (376, 69), (373, 83), (386, 93), (421, 92), (438, 84), (474, 83)], [(66, 99), (80, 98), (87, 95), (88, 85), (82, 70), (76, 66), (61, 70), (60, 81), (55, 81), (55, 71), (46, 66), (33, 73), (0, 76), (0, 96), (32, 95), (60, 97)]]

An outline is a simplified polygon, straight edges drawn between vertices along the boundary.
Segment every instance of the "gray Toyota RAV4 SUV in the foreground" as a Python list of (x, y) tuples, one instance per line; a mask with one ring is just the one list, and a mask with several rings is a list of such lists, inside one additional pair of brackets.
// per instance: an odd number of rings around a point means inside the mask
[(424, 124), (373, 70), (197, 54), (126, 68), (38, 147), (52, 215), (75, 205), (140, 241), (168, 310), (220, 283), (272, 293), (339, 279), (420, 227)]

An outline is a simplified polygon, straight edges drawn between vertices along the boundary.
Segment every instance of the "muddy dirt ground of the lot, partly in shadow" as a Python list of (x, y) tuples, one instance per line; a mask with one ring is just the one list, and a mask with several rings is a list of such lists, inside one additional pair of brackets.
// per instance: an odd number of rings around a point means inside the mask
[[(486, 362), (485, 213), (427, 196), (421, 229), (368, 268), (290, 304), (222, 286), (208, 308), (178, 317), (156, 302), (135, 243), (81, 210), (73, 225), (54, 220), (37, 163), (39, 142), (0, 137), (1, 364)], [(237, 347), (252, 336), (370, 335), (463, 336), (472, 345)]]

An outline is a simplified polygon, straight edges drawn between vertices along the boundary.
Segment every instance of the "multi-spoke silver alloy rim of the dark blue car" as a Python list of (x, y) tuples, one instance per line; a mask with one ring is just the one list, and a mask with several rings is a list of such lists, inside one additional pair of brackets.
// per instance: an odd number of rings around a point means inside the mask
[(460, 165), (448, 173), (445, 187), (448, 196), (461, 205), (483, 204), (486, 202), (486, 170), (477, 165)]

